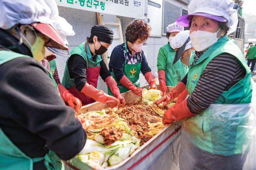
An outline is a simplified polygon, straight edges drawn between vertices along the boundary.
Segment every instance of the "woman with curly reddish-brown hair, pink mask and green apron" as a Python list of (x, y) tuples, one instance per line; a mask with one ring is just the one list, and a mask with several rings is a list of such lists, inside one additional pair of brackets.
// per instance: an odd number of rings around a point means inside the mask
[[(147, 23), (136, 19), (126, 29), (126, 42), (116, 46), (110, 55), (109, 70), (121, 93), (131, 90), (138, 96), (142, 96), (140, 71), (150, 85), (150, 89), (156, 89), (154, 76), (142, 51), (150, 30), (151, 27)], [(110, 89), (108, 89), (108, 94), (112, 95)]]

